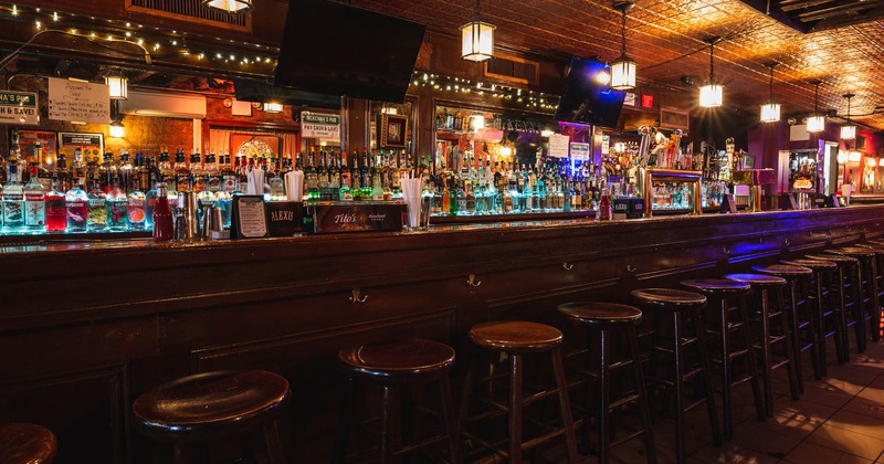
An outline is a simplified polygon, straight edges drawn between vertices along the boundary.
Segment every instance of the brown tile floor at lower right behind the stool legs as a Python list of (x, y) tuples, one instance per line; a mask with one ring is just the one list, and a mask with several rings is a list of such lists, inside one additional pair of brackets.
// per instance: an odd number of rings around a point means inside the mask
[[(822, 380), (813, 380), (813, 370), (807, 362), (804, 373), (810, 377), (804, 380), (804, 394), (799, 401), (789, 397), (786, 371), (775, 371), (778, 373), (774, 384), (774, 416), (765, 422), (755, 416), (748, 384), (738, 387), (734, 400), (734, 437), (722, 447), (712, 443), (705, 408), (691, 411), (688, 463), (884, 463), (884, 341), (870, 341), (869, 349), (861, 355), (851, 351), (851, 360), (844, 366), (834, 363), (832, 350), (829, 354), (829, 372)], [(809, 356), (804, 354), (804, 358)], [(717, 401), (720, 409), (720, 397)], [(675, 432), (671, 419), (654, 425), (654, 441), (659, 462), (674, 463)], [(617, 463), (646, 462), (641, 439), (613, 449), (612, 456)], [(594, 457), (585, 460), (594, 461)]]

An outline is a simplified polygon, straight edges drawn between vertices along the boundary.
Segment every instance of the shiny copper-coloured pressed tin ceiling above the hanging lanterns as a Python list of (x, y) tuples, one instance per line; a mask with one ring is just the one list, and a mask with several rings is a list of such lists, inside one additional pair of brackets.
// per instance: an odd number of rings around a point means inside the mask
[[(807, 8), (791, 11), (807, 12), (814, 4), (831, 7), (823, 0), (801, 1)], [(849, 0), (840, 1), (845, 2)], [(475, 6), (472, 0), (350, 3), (451, 34)], [(771, 0), (774, 13), (780, 6), (798, 3)], [(484, 0), (482, 14), (497, 27), (497, 41), (506, 46), (552, 55), (600, 55), (612, 61), (620, 55), (620, 13), (611, 6), (597, 0)], [(845, 8), (842, 13), (825, 18), (855, 23), (803, 33), (739, 0), (638, 0), (627, 22), (628, 49), (639, 63), (640, 82), (685, 88), (682, 76), (690, 76), (696, 87), (708, 77), (708, 46), (703, 40), (718, 35), (724, 40), (715, 48), (715, 75), (725, 85), (725, 107), (758, 113), (768, 95), (769, 76), (764, 64), (777, 61), (781, 65), (775, 73), (774, 93), (785, 115), (812, 110), (810, 82), (820, 80), (821, 109), (846, 114), (846, 101), (841, 95), (851, 92), (856, 94), (851, 105), (854, 119), (884, 129), (884, 114), (878, 113), (884, 112), (880, 106), (884, 105), (884, 24), (867, 20), (876, 18), (876, 9), (856, 12)], [(808, 27), (812, 29), (812, 24)]]

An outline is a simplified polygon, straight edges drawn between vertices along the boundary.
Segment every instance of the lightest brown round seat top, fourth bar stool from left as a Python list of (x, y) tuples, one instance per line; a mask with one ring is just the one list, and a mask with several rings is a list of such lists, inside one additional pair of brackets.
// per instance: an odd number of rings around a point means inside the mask
[(470, 340), (501, 350), (544, 351), (561, 345), (561, 331), (546, 324), (504, 320), (473, 326)]

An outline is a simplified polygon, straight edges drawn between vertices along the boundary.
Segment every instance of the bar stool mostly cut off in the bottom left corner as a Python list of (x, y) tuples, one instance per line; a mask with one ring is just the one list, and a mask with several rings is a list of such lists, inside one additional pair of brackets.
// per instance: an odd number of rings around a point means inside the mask
[(0, 463), (49, 464), (57, 446), (49, 429), (29, 423), (0, 424)]

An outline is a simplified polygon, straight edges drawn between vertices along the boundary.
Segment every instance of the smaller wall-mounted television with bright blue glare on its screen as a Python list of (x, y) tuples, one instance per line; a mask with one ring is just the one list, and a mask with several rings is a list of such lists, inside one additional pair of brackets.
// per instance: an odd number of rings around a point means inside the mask
[(596, 76), (602, 71), (610, 73), (604, 63), (571, 59), (565, 89), (556, 109), (557, 120), (617, 127), (627, 93), (612, 91), (608, 84), (597, 81)]

